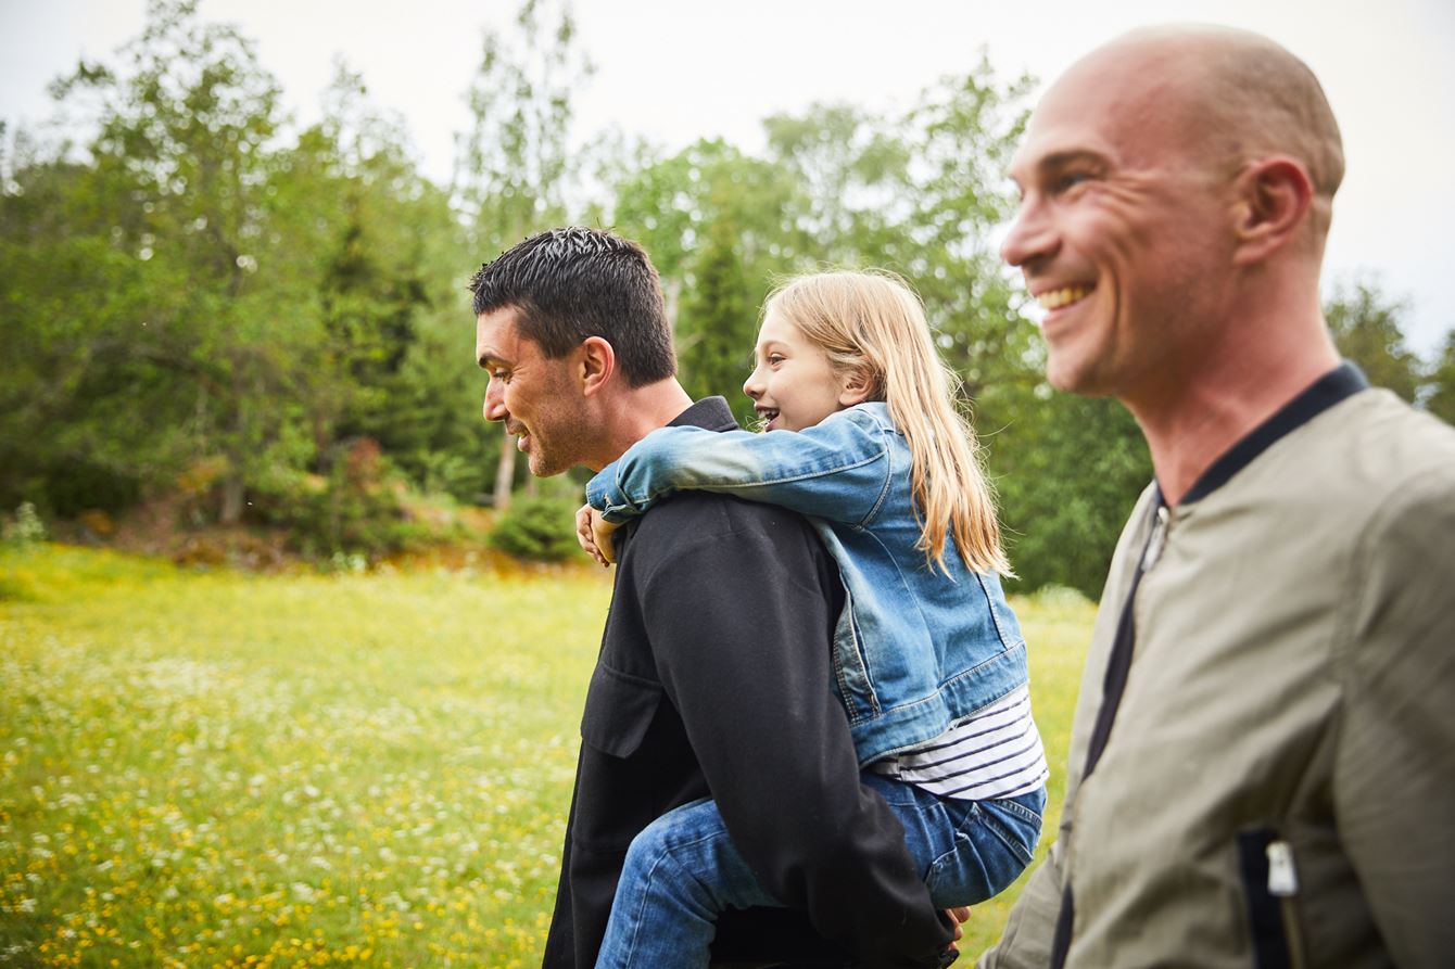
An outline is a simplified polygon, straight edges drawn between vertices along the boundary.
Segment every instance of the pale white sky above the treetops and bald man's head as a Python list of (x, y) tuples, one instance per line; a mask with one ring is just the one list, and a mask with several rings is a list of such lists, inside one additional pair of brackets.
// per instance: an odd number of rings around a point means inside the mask
[[(258, 42), (300, 121), (340, 54), (399, 112), (428, 175), (448, 180), (453, 134), (480, 29), (515, 0), (201, 0), (210, 20)], [(0, 0), (0, 118), (35, 127), (45, 84), (79, 57), (111, 58), (143, 25), (144, 0)], [(1326, 288), (1360, 276), (1408, 301), (1411, 345), (1429, 354), (1455, 327), (1455, 3), (1451, 0), (576, 0), (597, 74), (579, 129), (607, 125), (677, 148), (722, 135), (762, 145), (760, 121), (815, 100), (909, 103), (984, 45), (1001, 77), (1052, 80), (1129, 28), (1168, 20), (1259, 31), (1318, 74), (1344, 135)]]

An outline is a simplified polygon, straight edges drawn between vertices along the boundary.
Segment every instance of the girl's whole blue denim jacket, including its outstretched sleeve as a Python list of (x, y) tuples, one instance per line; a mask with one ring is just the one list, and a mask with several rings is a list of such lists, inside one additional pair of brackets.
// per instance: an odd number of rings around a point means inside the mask
[(915, 547), (909, 445), (886, 404), (797, 432), (662, 428), (591, 479), (586, 501), (620, 522), (684, 489), (813, 522), (847, 589), (834, 669), (860, 764), (931, 741), (1027, 682), (1026, 640), (1000, 578), (972, 572), (953, 541), (949, 575)]

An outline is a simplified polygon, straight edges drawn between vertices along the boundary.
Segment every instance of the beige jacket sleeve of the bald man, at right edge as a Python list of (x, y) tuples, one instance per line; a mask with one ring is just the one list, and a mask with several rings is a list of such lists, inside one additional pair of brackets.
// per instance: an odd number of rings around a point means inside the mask
[(1339, 840), (1400, 966), (1449, 965), (1455, 920), (1455, 480), (1426, 474), (1360, 547), (1336, 661)]

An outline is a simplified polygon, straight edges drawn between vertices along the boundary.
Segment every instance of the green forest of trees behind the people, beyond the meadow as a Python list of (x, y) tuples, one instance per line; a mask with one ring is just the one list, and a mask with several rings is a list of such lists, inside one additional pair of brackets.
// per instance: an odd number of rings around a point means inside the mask
[[(1096, 597), (1149, 466), (1117, 404), (1045, 384), (991, 242), (1032, 81), (968, 61), (901, 111), (765, 118), (761, 150), (582, 145), (591, 61), (569, 9), (528, 0), (485, 35), (439, 183), (362, 76), (340, 64), (300, 127), (247, 36), (154, 1), (115, 58), (54, 84), (67, 138), (0, 138), (0, 506), (15, 528), (25, 506), (63, 537), (141, 535), (202, 563), (361, 567), (487, 530), (512, 554), (567, 554), (583, 479), (530, 479), (482, 422), (464, 282), (524, 236), (583, 223), (646, 246), (684, 384), (744, 418), (776, 279), (902, 274), (965, 381), (1018, 591)], [(1326, 310), (1374, 383), (1455, 420), (1455, 332), (1422, 358), (1371, 279)]]

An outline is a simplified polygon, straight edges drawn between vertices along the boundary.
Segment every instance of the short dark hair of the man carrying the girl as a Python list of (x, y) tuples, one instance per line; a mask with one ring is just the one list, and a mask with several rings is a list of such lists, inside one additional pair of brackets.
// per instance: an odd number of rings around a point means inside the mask
[(631, 387), (677, 374), (662, 282), (629, 239), (579, 226), (551, 228), (480, 266), (470, 291), (476, 316), (514, 307), (519, 332), (549, 358), (599, 336)]

